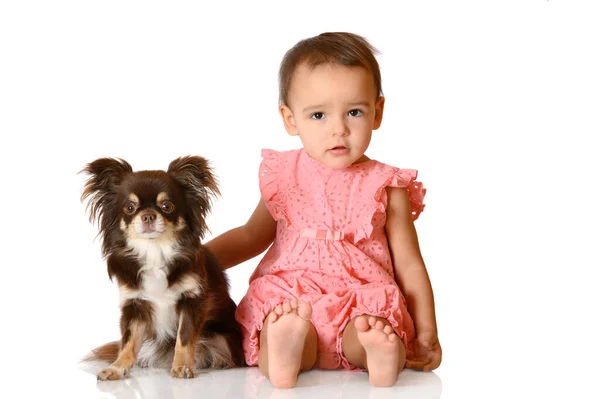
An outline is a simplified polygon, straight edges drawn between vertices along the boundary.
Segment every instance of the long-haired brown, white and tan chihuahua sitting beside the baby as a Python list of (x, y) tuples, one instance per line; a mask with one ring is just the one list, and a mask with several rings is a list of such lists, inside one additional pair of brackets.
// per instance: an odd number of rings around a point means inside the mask
[(121, 307), (121, 341), (86, 358), (111, 362), (98, 379), (122, 379), (136, 364), (171, 366), (176, 378), (243, 365), (226, 276), (200, 242), (219, 194), (208, 162), (188, 156), (166, 172), (133, 172), (122, 159), (101, 158), (81, 172), (89, 175), (81, 200), (99, 224)]

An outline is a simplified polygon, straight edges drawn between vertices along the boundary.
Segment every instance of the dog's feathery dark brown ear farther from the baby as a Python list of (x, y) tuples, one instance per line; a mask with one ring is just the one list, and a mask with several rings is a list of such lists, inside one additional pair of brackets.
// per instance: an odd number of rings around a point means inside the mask
[(99, 221), (102, 231), (109, 231), (117, 219), (117, 190), (125, 173), (133, 172), (122, 159), (100, 158), (85, 166), (79, 173), (90, 177), (85, 182), (81, 201), (89, 197), (87, 212), (90, 222)]

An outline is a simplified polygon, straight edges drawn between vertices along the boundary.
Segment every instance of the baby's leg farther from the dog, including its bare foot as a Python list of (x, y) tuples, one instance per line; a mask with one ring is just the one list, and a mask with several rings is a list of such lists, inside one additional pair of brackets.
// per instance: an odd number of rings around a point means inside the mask
[(342, 336), (342, 351), (350, 363), (369, 372), (369, 381), (377, 387), (394, 385), (406, 362), (402, 341), (390, 323), (379, 317), (350, 320)]

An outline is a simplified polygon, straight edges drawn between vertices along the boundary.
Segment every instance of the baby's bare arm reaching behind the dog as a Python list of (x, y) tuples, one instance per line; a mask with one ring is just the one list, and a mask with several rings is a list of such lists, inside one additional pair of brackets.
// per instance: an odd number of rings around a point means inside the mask
[(263, 253), (275, 239), (277, 222), (261, 199), (246, 224), (214, 238), (206, 247), (228, 269)]

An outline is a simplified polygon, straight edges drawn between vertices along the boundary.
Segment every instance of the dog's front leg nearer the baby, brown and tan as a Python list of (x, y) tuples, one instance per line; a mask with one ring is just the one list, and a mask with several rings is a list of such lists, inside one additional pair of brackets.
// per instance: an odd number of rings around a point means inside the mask
[(179, 327), (171, 377), (194, 378), (196, 341), (204, 324), (204, 311), (197, 298), (183, 298), (177, 304)]

